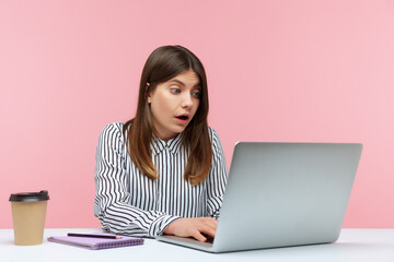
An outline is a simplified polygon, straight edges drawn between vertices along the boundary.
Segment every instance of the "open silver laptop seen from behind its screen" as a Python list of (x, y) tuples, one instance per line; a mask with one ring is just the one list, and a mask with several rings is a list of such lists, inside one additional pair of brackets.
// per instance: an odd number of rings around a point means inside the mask
[(338, 239), (361, 144), (235, 144), (212, 242), (159, 240), (207, 252), (329, 243)]

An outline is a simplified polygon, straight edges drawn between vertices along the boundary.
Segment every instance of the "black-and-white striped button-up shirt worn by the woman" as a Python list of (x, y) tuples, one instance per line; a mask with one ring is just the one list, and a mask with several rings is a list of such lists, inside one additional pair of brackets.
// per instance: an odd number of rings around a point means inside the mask
[(228, 170), (218, 133), (209, 128), (212, 167), (195, 187), (184, 179), (187, 150), (183, 133), (164, 142), (152, 139), (158, 179), (144, 176), (131, 162), (123, 135), (124, 123), (109, 123), (96, 150), (94, 213), (103, 229), (114, 234), (155, 237), (179, 217), (219, 217)]

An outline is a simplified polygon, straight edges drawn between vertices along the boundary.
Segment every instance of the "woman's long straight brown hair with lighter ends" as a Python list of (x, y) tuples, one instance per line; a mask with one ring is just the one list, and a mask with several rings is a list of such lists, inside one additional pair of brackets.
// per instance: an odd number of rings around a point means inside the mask
[(207, 76), (202, 63), (192, 51), (182, 46), (162, 46), (153, 50), (142, 70), (136, 117), (125, 123), (123, 133), (128, 153), (138, 169), (149, 178), (158, 179), (157, 168), (151, 158), (150, 143), (154, 127), (147, 94), (158, 84), (187, 70), (193, 70), (198, 75), (201, 87), (198, 109), (182, 138), (182, 144), (189, 152), (184, 177), (196, 186), (207, 178), (211, 168), (212, 146), (207, 123)]

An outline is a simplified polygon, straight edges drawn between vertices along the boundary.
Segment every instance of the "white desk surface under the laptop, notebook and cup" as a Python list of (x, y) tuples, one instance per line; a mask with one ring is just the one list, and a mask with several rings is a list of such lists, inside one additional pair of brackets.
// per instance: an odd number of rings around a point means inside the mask
[(394, 262), (394, 229), (343, 229), (336, 243), (293, 248), (265, 249), (222, 254), (211, 254), (170, 243), (146, 239), (136, 247), (86, 250), (53, 243), (49, 236), (66, 236), (67, 233), (93, 233), (100, 229), (45, 229), (43, 245), (19, 247), (13, 245), (13, 230), (0, 229), (0, 260), (7, 262), (53, 262), (53, 261), (292, 261), (292, 262)]

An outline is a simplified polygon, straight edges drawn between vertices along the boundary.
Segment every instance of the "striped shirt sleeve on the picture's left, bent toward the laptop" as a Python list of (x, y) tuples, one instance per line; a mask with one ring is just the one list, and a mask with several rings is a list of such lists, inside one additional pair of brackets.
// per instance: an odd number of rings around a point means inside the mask
[(155, 237), (175, 221), (163, 212), (143, 211), (130, 205), (121, 123), (105, 126), (96, 148), (94, 213), (103, 229), (114, 234)]

